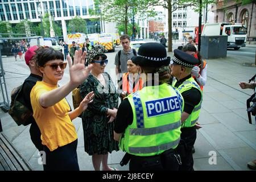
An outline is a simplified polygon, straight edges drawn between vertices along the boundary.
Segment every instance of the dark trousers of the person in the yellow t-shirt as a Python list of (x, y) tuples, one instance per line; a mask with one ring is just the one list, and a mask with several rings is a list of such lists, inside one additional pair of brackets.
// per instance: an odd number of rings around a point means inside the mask
[(79, 171), (76, 148), (77, 139), (52, 152), (47, 146), (44, 146), (44, 152), (46, 152), (44, 171)]

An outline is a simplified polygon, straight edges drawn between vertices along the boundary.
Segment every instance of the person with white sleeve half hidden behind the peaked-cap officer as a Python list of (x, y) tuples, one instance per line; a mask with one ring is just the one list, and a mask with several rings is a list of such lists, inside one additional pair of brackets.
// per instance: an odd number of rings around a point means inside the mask
[(207, 61), (201, 59), (200, 53), (196, 51), (196, 47), (192, 44), (187, 44), (186, 46), (184, 46), (183, 51), (185, 53), (188, 53), (189, 55), (196, 57), (196, 59), (201, 61), (201, 64), (193, 67), (191, 75), (203, 91), (204, 85), (207, 81)]

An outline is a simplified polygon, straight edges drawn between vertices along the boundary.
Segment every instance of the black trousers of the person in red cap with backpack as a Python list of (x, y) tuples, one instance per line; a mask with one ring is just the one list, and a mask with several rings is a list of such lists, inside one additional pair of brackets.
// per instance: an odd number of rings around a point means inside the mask
[(38, 127), (38, 125), (36, 124), (36, 122), (32, 122), (31, 126), (30, 126), (30, 138), (32, 140), (32, 142), (34, 143), (35, 147), (39, 150), (39, 151), (43, 151), (43, 144), (42, 144), (42, 140), (41, 140), (41, 131)]

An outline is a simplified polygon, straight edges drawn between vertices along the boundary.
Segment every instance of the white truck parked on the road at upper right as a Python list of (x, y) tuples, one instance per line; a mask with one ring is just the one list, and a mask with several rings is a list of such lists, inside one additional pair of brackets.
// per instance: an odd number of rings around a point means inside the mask
[(227, 47), (237, 50), (246, 46), (246, 33), (246, 28), (241, 23), (206, 23), (201, 35), (227, 35)]

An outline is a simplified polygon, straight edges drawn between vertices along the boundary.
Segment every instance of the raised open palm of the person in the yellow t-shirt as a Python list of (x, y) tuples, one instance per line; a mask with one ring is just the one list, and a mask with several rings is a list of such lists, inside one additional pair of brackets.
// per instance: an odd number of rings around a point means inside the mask
[[(82, 56), (81, 56), (82, 55)], [(72, 59), (70, 56), (67, 56), (69, 64), (69, 75), (71, 83), (77, 87), (83, 82), (89, 75), (92, 65), (89, 65), (85, 68), (85, 57), (86, 51), (82, 53), (82, 50), (75, 52), (74, 62), (72, 65)]]

